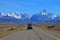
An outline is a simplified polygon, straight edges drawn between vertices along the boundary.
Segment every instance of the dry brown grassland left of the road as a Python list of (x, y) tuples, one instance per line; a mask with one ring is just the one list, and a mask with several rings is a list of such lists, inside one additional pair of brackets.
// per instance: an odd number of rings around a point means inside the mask
[(0, 38), (3, 38), (13, 32), (22, 30), (25, 24), (0, 24)]

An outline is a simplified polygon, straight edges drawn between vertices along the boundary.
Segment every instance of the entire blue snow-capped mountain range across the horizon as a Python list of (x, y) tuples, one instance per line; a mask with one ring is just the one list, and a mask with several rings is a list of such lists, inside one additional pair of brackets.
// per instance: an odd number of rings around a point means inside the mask
[(39, 24), (39, 23), (59, 23), (60, 16), (48, 13), (46, 10), (34, 14), (29, 18), (28, 14), (21, 13), (0, 13), (0, 23), (3, 24)]

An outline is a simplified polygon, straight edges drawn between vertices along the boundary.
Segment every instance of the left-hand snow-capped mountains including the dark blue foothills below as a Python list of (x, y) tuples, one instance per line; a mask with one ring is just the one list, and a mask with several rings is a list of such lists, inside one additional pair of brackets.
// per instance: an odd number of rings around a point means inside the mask
[(0, 16), (0, 23), (28, 23), (28, 17), (27, 14), (21, 14), (21, 13), (9, 13), (9, 14), (1, 14)]

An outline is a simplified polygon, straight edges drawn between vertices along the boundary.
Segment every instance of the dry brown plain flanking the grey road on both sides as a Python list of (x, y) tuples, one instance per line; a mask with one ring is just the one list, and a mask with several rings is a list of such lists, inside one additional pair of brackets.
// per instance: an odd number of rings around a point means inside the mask
[[(56, 24), (33, 24), (40, 30), (46, 30), (60, 35), (60, 23)], [(27, 27), (26, 24), (0, 24), (0, 38), (3, 38), (11, 33), (20, 31)]]

